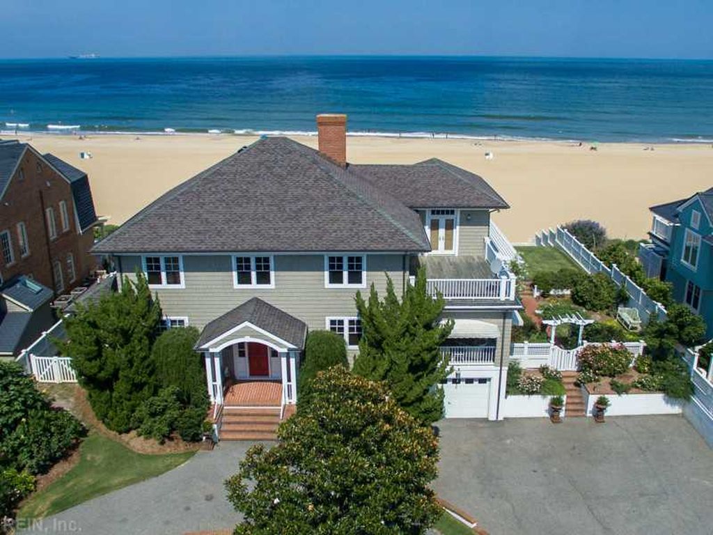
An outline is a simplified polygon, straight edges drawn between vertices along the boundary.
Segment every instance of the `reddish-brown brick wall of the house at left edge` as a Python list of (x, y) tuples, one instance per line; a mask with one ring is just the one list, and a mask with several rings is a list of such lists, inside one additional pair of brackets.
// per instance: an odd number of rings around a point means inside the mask
[[(27, 150), (19, 170), (11, 178), (0, 204), (0, 232), (9, 230), (14, 262), (6, 265), (0, 255), (0, 273), (4, 280), (15, 275), (32, 275), (49, 288), (55, 287), (52, 265), (60, 263), (64, 292), (81, 282), (93, 267), (93, 258), (87, 254), (93, 243), (91, 229), (78, 233), (74, 203), (69, 183), (36, 154)], [(60, 202), (67, 206), (68, 228), (63, 229)], [(46, 225), (46, 208), (53, 208), (57, 237), (49, 239)], [(24, 222), (29, 244), (29, 254), (20, 255), (17, 223)], [(68, 255), (73, 255), (76, 279), (70, 282)]]

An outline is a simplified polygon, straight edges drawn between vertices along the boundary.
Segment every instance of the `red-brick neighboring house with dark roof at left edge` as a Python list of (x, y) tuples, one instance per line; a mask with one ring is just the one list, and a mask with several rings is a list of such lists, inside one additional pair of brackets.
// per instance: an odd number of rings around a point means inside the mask
[(26, 275), (59, 295), (96, 265), (86, 173), (28, 143), (0, 141), (0, 278)]

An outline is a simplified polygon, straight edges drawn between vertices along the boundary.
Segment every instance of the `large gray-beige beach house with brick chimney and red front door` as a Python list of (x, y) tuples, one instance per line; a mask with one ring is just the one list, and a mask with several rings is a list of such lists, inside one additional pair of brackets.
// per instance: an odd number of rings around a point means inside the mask
[[(93, 248), (121, 275), (138, 270), (166, 327), (202, 330), (215, 407), (297, 401), (309, 330), (361, 335), (354, 295), (399, 291), (419, 266), (455, 327), (443, 352), (446, 417), (501, 419), (515, 277), (491, 222), (508, 204), (483, 178), (431, 159), (347, 163), (346, 116), (317, 116), (319, 151), (266, 137), (170, 190)], [(225, 419), (224, 419), (225, 424)], [(222, 437), (240, 437), (236, 427)], [(255, 436), (255, 435), (252, 435)]]

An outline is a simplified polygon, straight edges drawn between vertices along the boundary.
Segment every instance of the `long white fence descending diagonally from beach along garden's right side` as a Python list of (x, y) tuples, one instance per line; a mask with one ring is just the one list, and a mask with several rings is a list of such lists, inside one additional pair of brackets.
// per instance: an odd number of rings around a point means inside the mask
[(555, 230), (541, 230), (535, 235), (535, 244), (545, 247), (556, 247), (567, 253), (583, 270), (588, 273), (605, 273), (617, 286), (624, 286), (629, 294), (628, 307), (636, 308), (643, 322), (647, 323), (650, 317), (657, 317), (663, 321), (666, 319), (666, 309), (660, 302), (652, 300), (646, 295), (628, 275), (625, 275), (616, 264), (611, 268), (607, 267), (597, 256), (586, 248), (565, 228), (558, 227)]

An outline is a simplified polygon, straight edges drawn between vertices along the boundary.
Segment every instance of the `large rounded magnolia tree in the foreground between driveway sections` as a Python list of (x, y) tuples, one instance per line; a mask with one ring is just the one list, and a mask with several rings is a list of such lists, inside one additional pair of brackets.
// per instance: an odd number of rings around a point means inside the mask
[(225, 483), (242, 535), (423, 534), (440, 516), (429, 483), (438, 439), (383, 384), (319, 372), (279, 442), (250, 448)]

